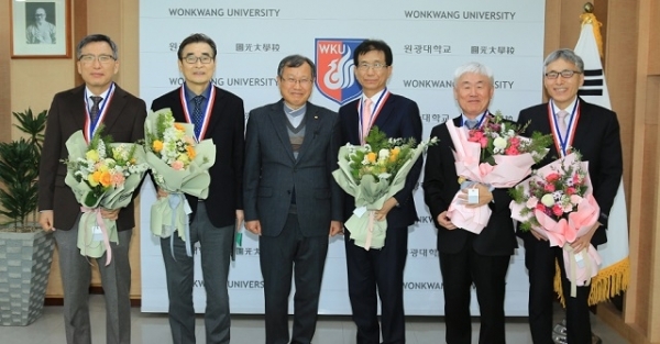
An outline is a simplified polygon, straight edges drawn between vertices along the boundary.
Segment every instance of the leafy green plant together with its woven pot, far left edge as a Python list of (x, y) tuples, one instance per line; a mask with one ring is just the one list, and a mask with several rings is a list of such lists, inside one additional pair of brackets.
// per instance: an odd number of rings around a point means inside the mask
[[(43, 312), (53, 237), (36, 223), (38, 162), (46, 111), (13, 112), (28, 137), (0, 143), (0, 324), (29, 325)], [(32, 221), (29, 219), (32, 217)]]

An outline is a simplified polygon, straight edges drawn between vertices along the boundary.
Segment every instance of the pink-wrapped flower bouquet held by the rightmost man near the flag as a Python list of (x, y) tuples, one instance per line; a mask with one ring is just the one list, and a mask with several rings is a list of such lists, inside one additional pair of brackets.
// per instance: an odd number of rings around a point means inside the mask
[(509, 192), (512, 218), (520, 222), (520, 230), (535, 231), (548, 238), (550, 246), (563, 248), (572, 297), (576, 286), (588, 286), (601, 265), (594, 246), (575, 253), (568, 245), (586, 234), (601, 213), (587, 171), (580, 154), (571, 153), (535, 171)]

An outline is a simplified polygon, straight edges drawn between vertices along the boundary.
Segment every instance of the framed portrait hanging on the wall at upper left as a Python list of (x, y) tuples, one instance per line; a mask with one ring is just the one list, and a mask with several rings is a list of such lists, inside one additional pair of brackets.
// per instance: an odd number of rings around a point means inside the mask
[(11, 58), (72, 57), (70, 0), (10, 0)]

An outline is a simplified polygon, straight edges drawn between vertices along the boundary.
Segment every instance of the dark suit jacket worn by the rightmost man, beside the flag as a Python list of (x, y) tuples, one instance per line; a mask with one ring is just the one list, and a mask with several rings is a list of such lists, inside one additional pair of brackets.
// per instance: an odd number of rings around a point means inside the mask
[[(601, 207), (598, 222), (603, 224), (591, 243), (601, 245), (607, 242), (607, 218), (614, 202), (614, 197), (622, 180), (624, 163), (622, 157), (622, 140), (616, 113), (605, 108), (591, 104), (578, 99), (580, 120), (576, 123), (572, 146), (582, 154), (583, 160), (588, 162), (588, 175), (594, 187), (594, 198)], [(526, 135), (532, 132), (551, 133), (548, 118), (548, 103), (527, 108), (518, 115), (519, 123), (529, 125)], [(541, 167), (559, 158), (554, 145), (538, 166)]]

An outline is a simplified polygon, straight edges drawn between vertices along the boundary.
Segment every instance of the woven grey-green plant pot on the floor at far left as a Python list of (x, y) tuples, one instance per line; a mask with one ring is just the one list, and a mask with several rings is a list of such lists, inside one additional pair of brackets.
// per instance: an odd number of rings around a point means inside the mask
[(53, 245), (41, 230), (0, 232), (0, 325), (25, 326), (43, 313)]

